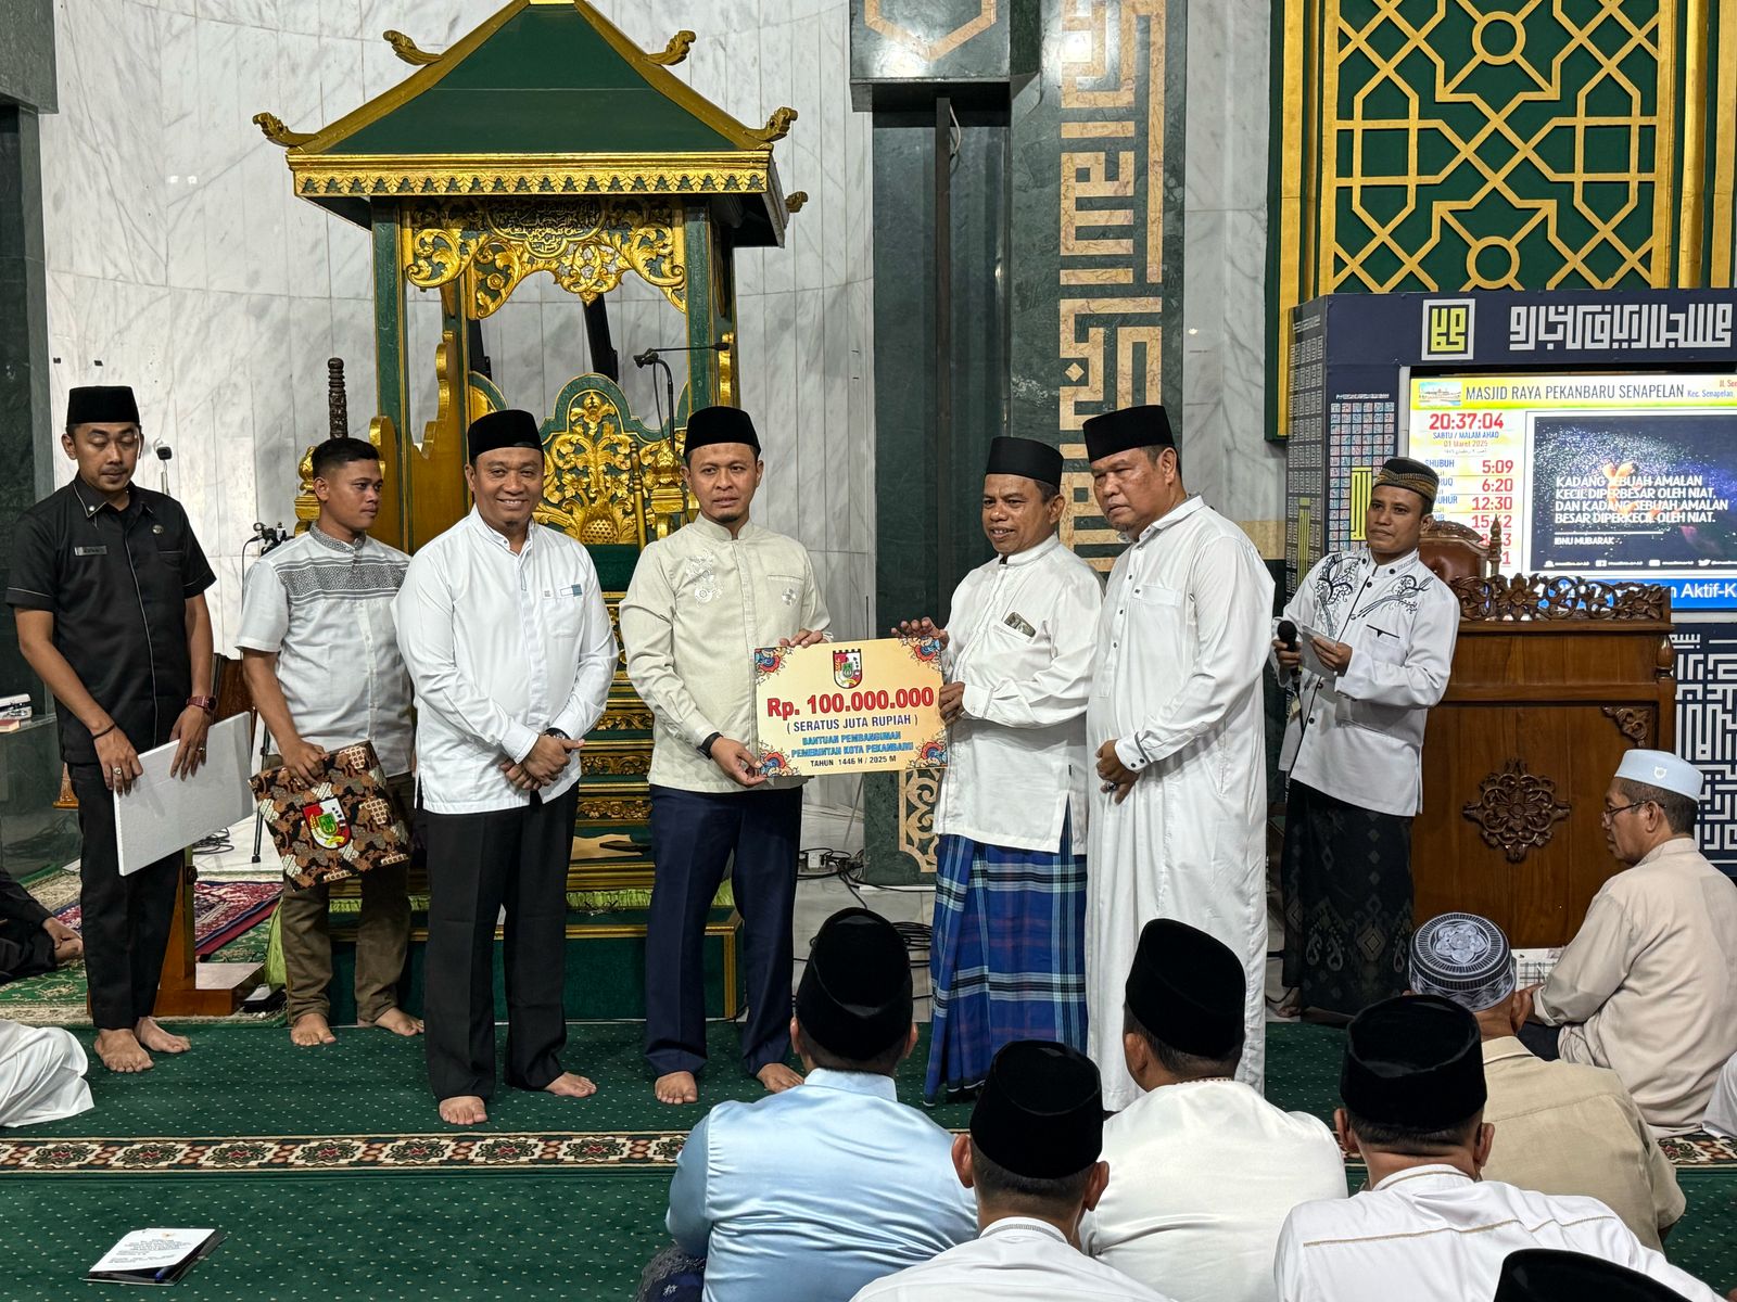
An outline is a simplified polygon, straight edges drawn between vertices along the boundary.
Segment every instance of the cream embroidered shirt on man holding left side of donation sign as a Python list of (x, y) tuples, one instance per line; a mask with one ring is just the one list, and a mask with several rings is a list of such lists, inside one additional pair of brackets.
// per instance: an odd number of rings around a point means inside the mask
[(620, 620), (627, 677), (655, 717), (651, 785), (749, 790), (698, 746), (721, 733), (757, 753), (754, 651), (830, 623), (808, 549), (754, 521), (731, 538), (702, 516), (639, 554)]

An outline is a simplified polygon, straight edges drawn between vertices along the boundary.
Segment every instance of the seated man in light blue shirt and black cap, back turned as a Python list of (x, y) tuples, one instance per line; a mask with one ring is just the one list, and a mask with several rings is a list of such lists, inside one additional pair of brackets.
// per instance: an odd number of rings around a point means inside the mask
[(676, 1161), (669, 1233), (705, 1259), (705, 1302), (844, 1302), (976, 1233), (947, 1132), (893, 1088), (917, 1043), (893, 924), (863, 908), (827, 918), (790, 1040), (802, 1085), (717, 1104)]

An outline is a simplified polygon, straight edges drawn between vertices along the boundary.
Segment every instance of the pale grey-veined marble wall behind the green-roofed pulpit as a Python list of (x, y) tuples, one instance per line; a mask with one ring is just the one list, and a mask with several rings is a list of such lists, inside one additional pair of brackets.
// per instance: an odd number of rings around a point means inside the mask
[[(825, 552), (835, 601), (856, 608), (872, 545), (872, 229), (868, 122), (849, 113), (846, 85), (846, 3), (801, 0), (764, 14), (761, 0), (598, 7), (644, 49), (693, 28), (695, 54), (674, 75), (742, 122), (757, 127), (780, 104), (801, 113), (778, 148), (780, 172), (787, 189), (813, 198), (787, 248), (738, 255), (738, 394), (766, 436), (761, 519)], [(380, 40), (384, 30), (439, 50), (497, 9), (497, 0), (57, 3), (63, 111), (43, 123), (52, 403), (64, 410), (71, 384), (135, 385), (148, 434), (174, 448), (174, 491), (217, 566), (221, 639), (233, 635), (252, 523), (292, 519), (295, 462), (327, 432), (327, 358), (347, 363), (354, 434), (375, 401), (368, 233), (295, 200), (281, 149), (250, 118), (266, 109), (314, 130), (412, 73)], [(122, 83), (111, 75), (122, 62), (156, 71)], [(433, 417), (429, 316), (412, 328), (412, 436)], [(653, 373), (629, 358), (679, 342), (683, 325), (660, 295), (629, 281), (611, 299), (611, 330), (634, 411), (651, 422)], [(561, 382), (589, 366), (585, 354), (577, 302), (547, 276), (490, 326), (497, 378), (544, 411)], [(677, 385), (684, 375), (677, 359)], [(837, 484), (827, 477), (835, 462)], [(69, 469), (57, 474), (64, 483)]]

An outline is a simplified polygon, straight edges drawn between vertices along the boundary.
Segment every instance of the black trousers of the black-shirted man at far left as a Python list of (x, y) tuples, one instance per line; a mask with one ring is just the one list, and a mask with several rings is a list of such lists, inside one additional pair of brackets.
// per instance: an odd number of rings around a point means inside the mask
[[(78, 797), (78, 930), (85, 941), (90, 1021), (99, 1031), (132, 1029), (156, 1005), (168, 929), (175, 922), (175, 882), (181, 851), (120, 875), (115, 844), (115, 795), (102, 785), (102, 766), (68, 764)], [(125, 797), (122, 797), (125, 800)]]

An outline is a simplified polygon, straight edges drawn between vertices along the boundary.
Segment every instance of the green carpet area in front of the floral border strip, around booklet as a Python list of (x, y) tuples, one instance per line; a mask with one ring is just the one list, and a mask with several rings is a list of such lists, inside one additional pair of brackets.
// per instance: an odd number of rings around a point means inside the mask
[[(667, 1177), (160, 1175), (0, 1180), (0, 1297), (111, 1297), (80, 1278), (144, 1226), (228, 1238), (175, 1299), (624, 1302), (664, 1246)], [(120, 1293), (132, 1297), (125, 1290)]]

